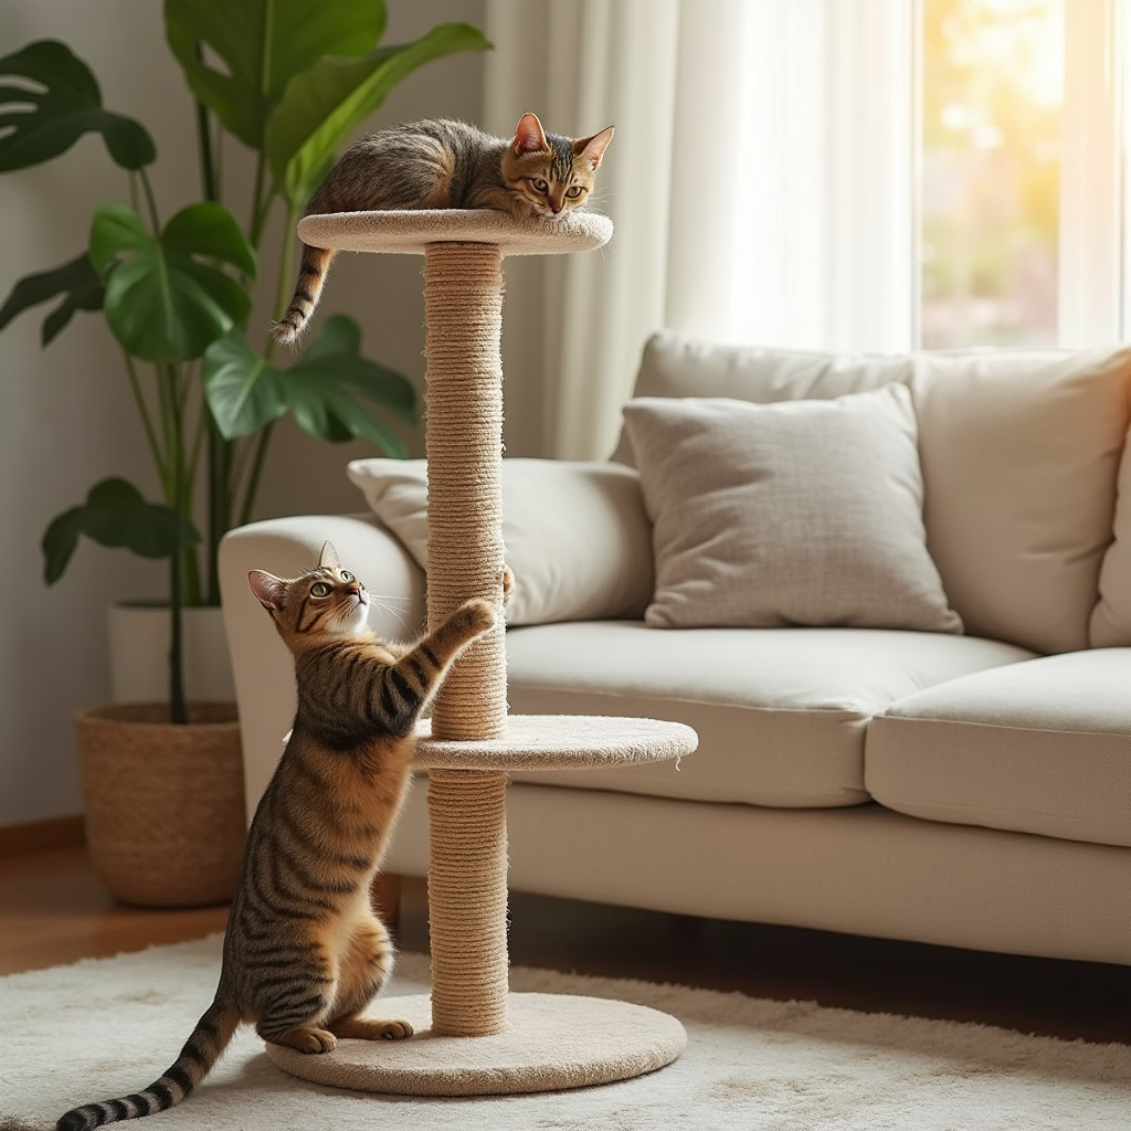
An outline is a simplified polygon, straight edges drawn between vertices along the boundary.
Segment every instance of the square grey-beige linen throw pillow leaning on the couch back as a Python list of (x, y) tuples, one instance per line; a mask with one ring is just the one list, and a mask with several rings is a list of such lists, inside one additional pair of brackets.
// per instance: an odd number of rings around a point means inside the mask
[(654, 523), (657, 628), (960, 632), (926, 549), (910, 394), (624, 407)]

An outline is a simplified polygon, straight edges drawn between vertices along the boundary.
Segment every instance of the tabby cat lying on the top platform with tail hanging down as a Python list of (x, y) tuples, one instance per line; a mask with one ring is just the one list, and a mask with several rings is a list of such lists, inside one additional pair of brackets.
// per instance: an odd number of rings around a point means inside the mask
[[(612, 126), (588, 138), (546, 133), (530, 113), (523, 114), (510, 139), (444, 118), (394, 126), (351, 146), (303, 215), (494, 208), (520, 218), (555, 219), (585, 204), (612, 137)], [(333, 259), (328, 249), (302, 245), (294, 297), (271, 323), (277, 342), (297, 340), (318, 305)]]

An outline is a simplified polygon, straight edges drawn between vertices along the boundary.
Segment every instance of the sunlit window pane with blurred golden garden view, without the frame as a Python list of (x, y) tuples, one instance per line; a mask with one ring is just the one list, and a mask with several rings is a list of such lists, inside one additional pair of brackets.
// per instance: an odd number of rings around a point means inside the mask
[(923, 0), (922, 343), (1052, 345), (1063, 0)]

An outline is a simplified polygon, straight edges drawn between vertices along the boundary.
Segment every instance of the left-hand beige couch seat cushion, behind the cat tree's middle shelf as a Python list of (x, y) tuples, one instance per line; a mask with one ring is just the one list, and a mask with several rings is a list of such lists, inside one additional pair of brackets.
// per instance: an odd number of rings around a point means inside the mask
[(639, 715), (694, 727), (671, 763), (516, 775), (542, 784), (785, 808), (856, 805), (873, 715), (915, 691), (1028, 659), (1013, 645), (879, 629), (680, 629), (639, 621), (507, 633), (515, 714)]

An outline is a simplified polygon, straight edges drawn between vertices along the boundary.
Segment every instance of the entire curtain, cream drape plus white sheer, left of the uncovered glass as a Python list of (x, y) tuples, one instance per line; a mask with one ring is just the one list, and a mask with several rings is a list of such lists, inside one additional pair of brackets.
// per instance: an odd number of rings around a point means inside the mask
[(517, 293), (508, 267), (508, 379), (513, 354), (538, 381), (518, 402), (537, 432), (524, 454), (607, 455), (665, 325), (910, 345), (913, 16), (908, 0), (487, 0), (490, 129), (529, 109), (559, 132), (616, 127), (597, 199), (613, 244), (525, 267)]

